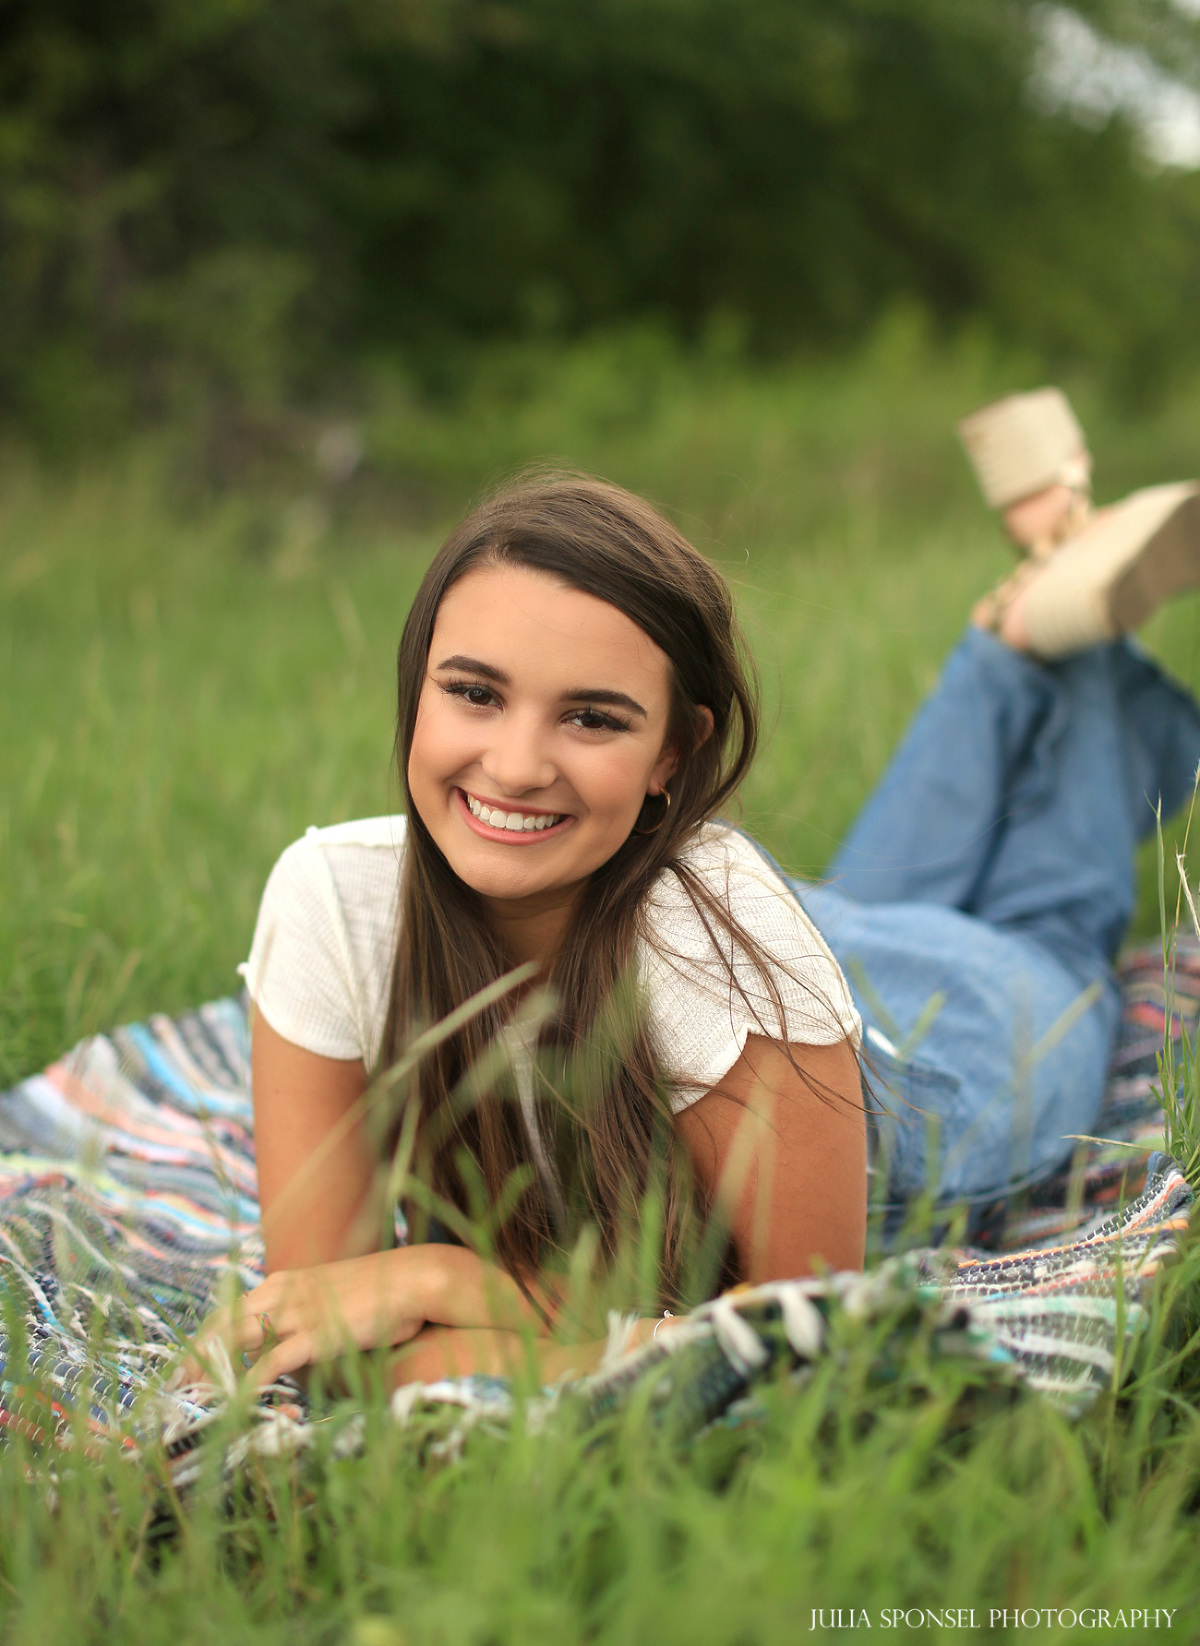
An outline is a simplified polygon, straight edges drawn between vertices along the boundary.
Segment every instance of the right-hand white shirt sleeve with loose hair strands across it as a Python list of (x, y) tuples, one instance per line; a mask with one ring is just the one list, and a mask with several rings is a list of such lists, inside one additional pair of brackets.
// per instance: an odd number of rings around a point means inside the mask
[(677, 1113), (719, 1083), (752, 1034), (795, 1045), (849, 1040), (854, 1049), (863, 1039), (863, 1021), (825, 940), (751, 851), (709, 849), (695, 867), (767, 958), (779, 1001), (754, 958), (711, 917), (706, 922), (677, 876), (663, 876), (647, 910), (642, 976)]

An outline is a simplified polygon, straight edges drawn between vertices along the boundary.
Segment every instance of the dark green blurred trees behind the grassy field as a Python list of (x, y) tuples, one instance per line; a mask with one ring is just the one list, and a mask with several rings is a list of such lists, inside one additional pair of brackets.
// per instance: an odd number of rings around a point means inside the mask
[[(1167, 0), (1088, 0), (1195, 76)], [(1197, 354), (1195, 176), (1030, 97), (1034, 0), (7, 0), (0, 410), (278, 407), (364, 351), (899, 296), (1142, 387)]]

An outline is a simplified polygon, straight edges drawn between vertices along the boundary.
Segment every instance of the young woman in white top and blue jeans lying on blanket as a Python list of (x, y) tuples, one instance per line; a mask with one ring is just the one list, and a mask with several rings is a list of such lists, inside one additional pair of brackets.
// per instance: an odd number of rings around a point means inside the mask
[[(729, 591), (649, 504), (538, 481), (451, 535), (400, 642), (405, 816), (288, 848), (245, 968), (268, 1279), (214, 1330), (258, 1378), (347, 1343), (507, 1366), (561, 1302), (545, 1259), (584, 1223), (611, 1258), (655, 1185), (665, 1297), (714, 1205), (742, 1279), (859, 1266), (864, 1024), (897, 1198), (1070, 1154), (1190, 698), (1126, 645), (1047, 667), (968, 630), (821, 887), (718, 821), (754, 744)], [(484, 1216), (489, 1253), (385, 1233), (364, 1095), (448, 1019), (388, 1147), (418, 1223)]]

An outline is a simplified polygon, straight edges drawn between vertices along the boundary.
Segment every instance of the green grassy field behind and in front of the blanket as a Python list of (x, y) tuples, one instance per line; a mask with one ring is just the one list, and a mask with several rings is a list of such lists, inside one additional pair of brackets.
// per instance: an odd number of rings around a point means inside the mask
[[(367, 463), (342, 487), (305, 449), (222, 491), (166, 438), (71, 476), (12, 453), (0, 1085), (105, 1024), (232, 991), (278, 851), (308, 823), (395, 805), (408, 599), (461, 507), (533, 459), (645, 491), (728, 571), (767, 703), (746, 821), (820, 874), (1009, 565), (951, 425), (1027, 382), (983, 342), (933, 351), (902, 314), (836, 369), (751, 372), (719, 337), (683, 357), (622, 332), (497, 352), (435, 403), (382, 375)], [(1101, 499), (1200, 467), (1200, 393), (1133, 418), (1072, 387)], [(1144, 635), (1193, 686), (1197, 616), (1179, 602)], [(198, 1501), (165, 1552), (153, 1481), (81, 1470), (53, 1508), (10, 1448), (0, 1638), (782, 1643), (812, 1608), (867, 1608), (879, 1628), (881, 1608), (974, 1606), (988, 1633), (988, 1608), (1017, 1605), (1177, 1606), (1195, 1636), (1200, 1427), (1180, 1330), (1152, 1332), (1131, 1388), (1075, 1427), (986, 1396), (965, 1424), (965, 1373), (915, 1343), (876, 1386), (872, 1345), (853, 1340), (802, 1394), (772, 1391), (765, 1427), (701, 1453), (630, 1422), (589, 1452), (481, 1437), (431, 1470), (374, 1412), (367, 1458), (331, 1460), (316, 1501), (280, 1470), (270, 1501)]]

